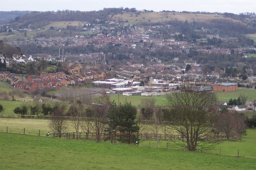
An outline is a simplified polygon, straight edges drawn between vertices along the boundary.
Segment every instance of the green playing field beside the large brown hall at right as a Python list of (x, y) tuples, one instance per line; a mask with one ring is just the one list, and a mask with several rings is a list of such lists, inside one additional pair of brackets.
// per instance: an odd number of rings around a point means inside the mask
[(230, 98), (238, 99), (240, 94), (246, 94), (248, 96), (247, 101), (254, 101), (256, 99), (256, 90), (250, 88), (238, 88), (233, 92), (216, 92), (220, 101), (228, 102)]

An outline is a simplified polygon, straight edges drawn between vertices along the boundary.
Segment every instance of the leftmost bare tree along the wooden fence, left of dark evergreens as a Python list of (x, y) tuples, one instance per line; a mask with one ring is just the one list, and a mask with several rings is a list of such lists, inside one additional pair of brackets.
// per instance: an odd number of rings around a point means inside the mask
[(68, 122), (66, 117), (64, 117), (66, 114), (66, 106), (56, 104), (53, 108), (52, 114), (51, 114), (51, 120), (49, 123), (50, 129), (54, 133), (58, 135), (58, 137), (61, 137), (62, 132), (65, 131), (68, 128)]

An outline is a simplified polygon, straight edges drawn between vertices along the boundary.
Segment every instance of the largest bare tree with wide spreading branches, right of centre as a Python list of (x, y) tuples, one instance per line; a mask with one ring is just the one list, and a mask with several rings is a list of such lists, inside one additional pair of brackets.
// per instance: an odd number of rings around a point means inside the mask
[[(208, 141), (212, 145), (206, 145), (198, 141), (200, 136), (212, 137), (212, 117), (216, 114), (214, 105), (217, 103), (215, 93), (207, 88), (185, 84), (180, 91), (166, 95), (166, 106), (170, 111), (171, 119), (175, 123), (170, 124), (173, 131), (179, 133), (179, 138), (184, 144), (176, 143), (185, 149), (195, 151), (197, 147), (210, 147), (216, 145), (214, 141)], [(186, 145), (185, 145), (186, 144)]]

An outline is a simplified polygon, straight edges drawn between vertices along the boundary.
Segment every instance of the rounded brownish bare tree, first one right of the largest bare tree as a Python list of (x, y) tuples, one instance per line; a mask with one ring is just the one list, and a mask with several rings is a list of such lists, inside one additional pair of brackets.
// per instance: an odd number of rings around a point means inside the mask
[(235, 129), (234, 113), (230, 111), (221, 113), (215, 126), (220, 132), (224, 133), (227, 140), (229, 140), (232, 131)]

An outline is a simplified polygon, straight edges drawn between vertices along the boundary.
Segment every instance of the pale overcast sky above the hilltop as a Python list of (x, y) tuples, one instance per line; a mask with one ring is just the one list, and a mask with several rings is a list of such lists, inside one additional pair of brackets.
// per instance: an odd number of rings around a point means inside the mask
[(103, 8), (202, 12), (256, 12), (255, 0), (0, 0), (0, 11), (92, 11)]

